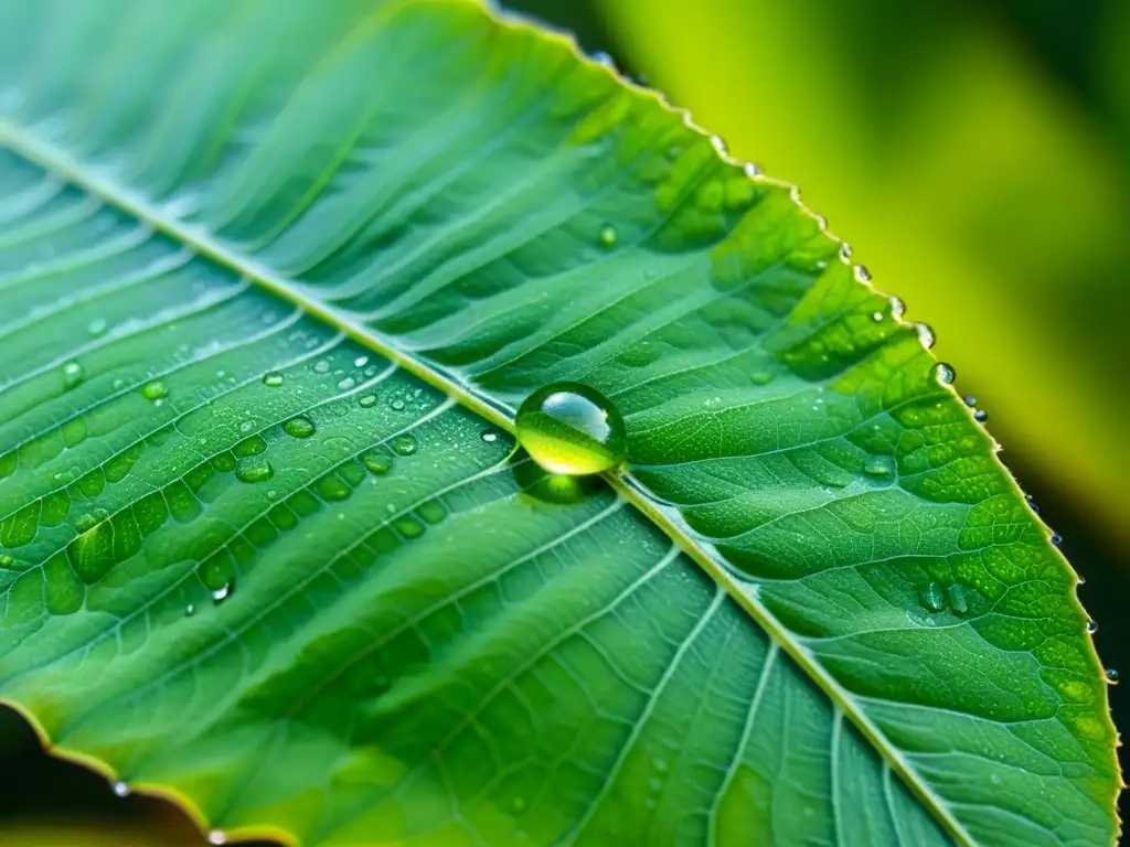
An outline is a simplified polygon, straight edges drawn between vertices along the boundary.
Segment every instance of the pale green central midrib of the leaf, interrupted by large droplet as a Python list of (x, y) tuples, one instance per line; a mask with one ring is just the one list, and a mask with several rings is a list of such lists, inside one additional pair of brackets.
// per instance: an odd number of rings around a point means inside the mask
[[(54, 173), (71, 184), (94, 194), (103, 202), (119, 211), (133, 217), (172, 239), (175, 239), (206, 256), (217, 264), (249, 280), (253, 285), (270, 291), (340, 330), (362, 344), (395, 363), (412, 375), (429, 385), (454, 398), (460, 404), (489, 420), (495, 426), (514, 433), (514, 421), (504, 413), (505, 407), (495, 404), (473, 386), (458, 379), (453, 375), (432, 367), (399, 350), (393, 341), (375, 332), (372, 328), (359, 323), (331, 306), (307, 296), (290, 280), (276, 273), (271, 268), (232, 250), (223, 242), (212, 238), (197, 227), (185, 225), (175, 217), (166, 215), (159, 207), (153, 204), (127, 186), (106, 180), (85, 167), (63, 149), (36, 137), (27, 129), (14, 123), (10, 119), (0, 117), (0, 141), (10, 147), (28, 161)], [(895, 748), (871, 719), (857, 706), (851, 692), (843, 688), (812, 655), (790, 636), (789, 630), (757, 599), (753, 590), (744, 587), (716, 557), (716, 551), (694, 539), (681, 522), (643, 494), (644, 489), (627, 471), (619, 470), (602, 474), (628, 503), (641, 512), (649, 521), (659, 526), (678, 547), (702, 567), (727, 593), (738, 603), (781, 649), (797, 662), (808, 678), (815, 682), (863, 734), (879, 752), (888, 766), (902, 778), (910, 789), (919, 797), (931, 814), (948, 830), (949, 835), (960, 845), (973, 845), (974, 840), (965, 827), (954, 818), (948, 806), (931, 788), (922, 781), (918, 772), (905, 760), (902, 752)], [(711, 545), (712, 547), (712, 545)]]

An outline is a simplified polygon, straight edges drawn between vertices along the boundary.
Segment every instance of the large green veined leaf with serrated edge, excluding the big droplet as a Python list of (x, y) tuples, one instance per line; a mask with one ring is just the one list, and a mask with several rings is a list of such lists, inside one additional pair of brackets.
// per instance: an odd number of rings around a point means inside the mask
[[(461, 0), (0, 6), (0, 697), (215, 839), (1101, 845), (1075, 575), (788, 186)], [(611, 399), (549, 479), (513, 412)]]

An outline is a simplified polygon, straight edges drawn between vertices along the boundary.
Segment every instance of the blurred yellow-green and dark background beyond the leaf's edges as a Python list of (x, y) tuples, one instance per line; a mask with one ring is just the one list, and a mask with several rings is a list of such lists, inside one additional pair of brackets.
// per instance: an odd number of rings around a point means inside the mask
[[(1130, 675), (1130, 0), (503, 6), (799, 185), (935, 329), (1086, 578), (1099, 655)], [(1111, 693), (1130, 726), (1130, 683)], [(205, 844), (172, 806), (50, 759), (2, 709), (0, 784), (5, 845)]]

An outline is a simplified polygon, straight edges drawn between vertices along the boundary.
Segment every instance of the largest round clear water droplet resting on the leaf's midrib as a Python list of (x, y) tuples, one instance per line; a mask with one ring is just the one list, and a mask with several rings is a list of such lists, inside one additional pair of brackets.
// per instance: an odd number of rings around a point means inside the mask
[(598, 391), (554, 383), (528, 396), (518, 410), (518, 439), (553, 473), (600, 473), (627, 454), (624, 419)]

